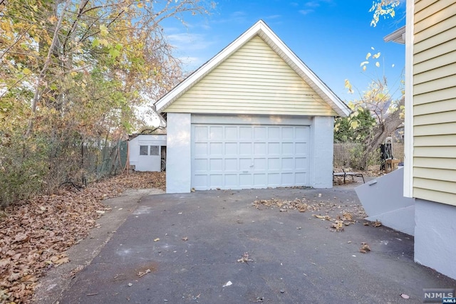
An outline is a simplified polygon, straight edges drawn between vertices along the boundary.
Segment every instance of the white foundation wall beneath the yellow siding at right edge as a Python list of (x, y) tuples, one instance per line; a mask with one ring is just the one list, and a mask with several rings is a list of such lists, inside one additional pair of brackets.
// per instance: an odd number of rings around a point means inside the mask
[(456, 279), (456, 206), (415, 199), (415, 262)]

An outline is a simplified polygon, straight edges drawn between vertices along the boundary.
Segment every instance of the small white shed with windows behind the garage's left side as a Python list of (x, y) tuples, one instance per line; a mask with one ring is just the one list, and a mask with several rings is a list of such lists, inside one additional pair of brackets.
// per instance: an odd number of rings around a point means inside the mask
[(128, 139), (128, 160), (135, 171), (165, 170), (166, 135), (134, 134)]

